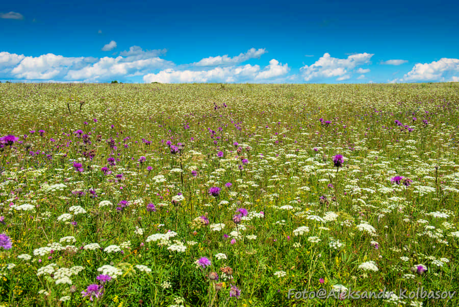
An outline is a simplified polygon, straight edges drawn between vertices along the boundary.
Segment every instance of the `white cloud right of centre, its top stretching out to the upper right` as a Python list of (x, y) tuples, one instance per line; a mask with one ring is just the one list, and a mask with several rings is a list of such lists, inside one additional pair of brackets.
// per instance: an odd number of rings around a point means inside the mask
[[(350, 55), (346, 59), (338, 59), (325, 53), (314, 64), (301, 67), (301, 75), (304, 81), (321, 80), (331, 77), (345, 78), (344, 76), (348, 73), (349, 69), (369, 63), (373, 55), (374, 54), (369, 53), (358, 53)], [(347, 78), (341, 80), (346, 79)]]

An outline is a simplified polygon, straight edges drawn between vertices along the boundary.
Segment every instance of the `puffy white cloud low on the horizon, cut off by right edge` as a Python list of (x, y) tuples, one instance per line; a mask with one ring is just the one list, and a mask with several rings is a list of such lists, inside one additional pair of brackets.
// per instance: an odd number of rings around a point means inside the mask
[(459, 77), (459, 59), (442, 58), (431, 63), (417, 63), (401, 81), (453, 81)]

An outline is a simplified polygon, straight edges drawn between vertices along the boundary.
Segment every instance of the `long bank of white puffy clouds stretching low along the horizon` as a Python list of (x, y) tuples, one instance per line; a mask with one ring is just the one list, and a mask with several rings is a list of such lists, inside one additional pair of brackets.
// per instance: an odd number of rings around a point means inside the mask
[[(105, 44), (101, 50), (112, 51), (115, 41)], [(38, 57), (0, 52), (0, 80), (21, 82), (109, 82), (139, 77), (138, 82), (160, 83), (356, 83), (371, 82), (375, 65), (402, 65), (407, 60), (391, 59), (373, 64), (375, 54), (356, 53), (347, 58), (336, 58), (325, 53), (310, 65), (304, 65), (296, 74), (292, 67), (278, 59), (267, 61), (266, 49), (251, 48), (245, 53), (210, 56), (197, 62), (177, 65), (164, 59), (166, 49), (143, 50), (131, 46), (117, 56), (64, 57), (52, 53)], [(117, 54), (117, 53), (115, 53)], [(264, 59), (262, 59), (262, 56)], [(260, 64), (244, 64), (257, 60)], [(388, 80), (395, 82), (457, 82), (459, 81), (459, 59), (441, 58), (430, 63), (416, 63), (402, 78)], [(131, 81), (132, 82), (132, 81)], [(134, 81), (135, 82), (135, 81)]]

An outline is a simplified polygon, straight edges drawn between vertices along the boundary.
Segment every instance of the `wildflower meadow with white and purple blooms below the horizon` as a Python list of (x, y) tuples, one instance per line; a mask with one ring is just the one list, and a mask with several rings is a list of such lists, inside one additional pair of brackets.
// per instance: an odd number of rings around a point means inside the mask
[(459, 303), (458, 83), (0, 102), (0, 306)]

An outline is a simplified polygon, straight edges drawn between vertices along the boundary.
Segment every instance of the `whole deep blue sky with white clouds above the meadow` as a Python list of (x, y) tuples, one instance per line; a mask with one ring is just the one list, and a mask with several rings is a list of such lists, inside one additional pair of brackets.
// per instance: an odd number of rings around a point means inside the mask
[(459, 2), (15, 1), (0, 81), (459, 82)]

